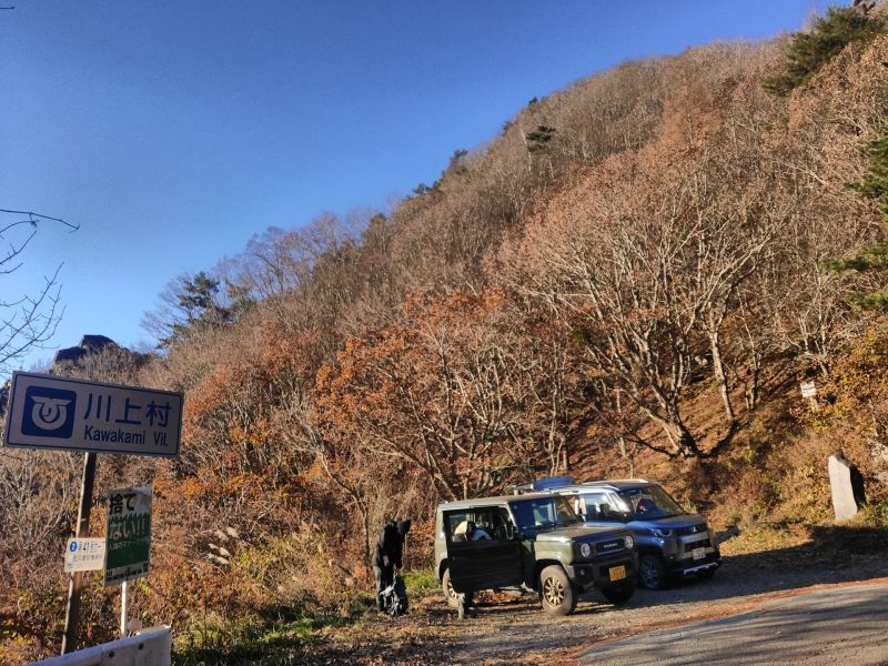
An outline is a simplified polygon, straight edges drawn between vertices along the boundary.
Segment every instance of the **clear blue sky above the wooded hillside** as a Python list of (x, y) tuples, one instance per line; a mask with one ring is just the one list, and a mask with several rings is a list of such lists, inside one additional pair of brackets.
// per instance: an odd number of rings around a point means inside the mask
[(828, 4), (2, 0), (0, 209), (81, 229), (43, 225), (0, 299), (64, 262), (53, 346), (151, 342), (140, 321), (170, 280), (271, 225), (384, 208), (534, 97)]

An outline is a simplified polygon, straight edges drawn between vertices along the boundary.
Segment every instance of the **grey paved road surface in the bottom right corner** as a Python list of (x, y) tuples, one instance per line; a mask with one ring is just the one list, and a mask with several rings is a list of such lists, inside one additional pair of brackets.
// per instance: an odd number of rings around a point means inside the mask
[(581, 664), (887, 665), (888, 585), (813, 592), (639, 634), (584, 652)]

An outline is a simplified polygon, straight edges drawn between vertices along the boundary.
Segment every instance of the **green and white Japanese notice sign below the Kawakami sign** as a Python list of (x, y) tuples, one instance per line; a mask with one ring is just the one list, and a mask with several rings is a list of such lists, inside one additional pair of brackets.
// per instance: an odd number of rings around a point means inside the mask
[(108, 494), (104, 584), (148, 575), (151, 553), (151, 488), (121, 488)]

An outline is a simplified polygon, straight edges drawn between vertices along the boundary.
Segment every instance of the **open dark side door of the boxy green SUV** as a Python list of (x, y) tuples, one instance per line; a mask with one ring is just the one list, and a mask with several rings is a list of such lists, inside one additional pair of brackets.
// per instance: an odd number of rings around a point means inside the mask
[[(474, 592), (521, 585), (521, 541), (515, 537), (504, 507), (445, 511), (444, 536), (451, 584), (456, 592)], [(485, 525), (484, 538), (461, 532), (466, 523)]]

